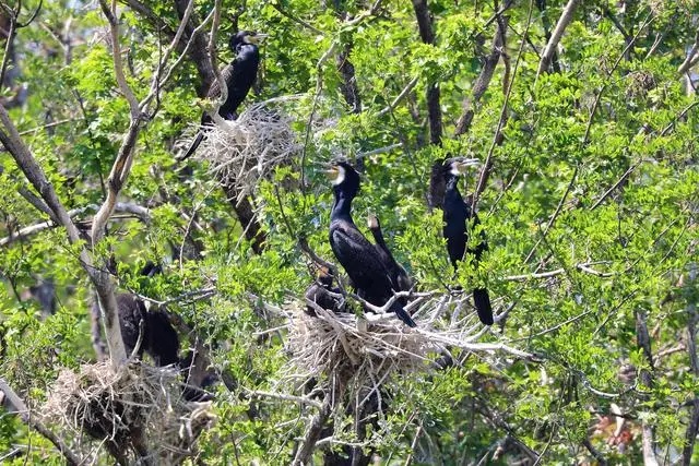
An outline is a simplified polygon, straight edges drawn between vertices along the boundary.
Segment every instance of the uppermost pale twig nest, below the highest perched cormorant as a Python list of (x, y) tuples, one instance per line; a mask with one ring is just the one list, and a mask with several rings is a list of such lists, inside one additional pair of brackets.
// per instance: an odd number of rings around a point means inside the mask
[(287, 165), (301, 152), (292, 118), (284, 107), (296, 96), (277, 97), (249, 106), (236, 120), (218, 119), (204, 127), (198, 152), (211, 171), (234, 186), (240, 201), (275, 167)]

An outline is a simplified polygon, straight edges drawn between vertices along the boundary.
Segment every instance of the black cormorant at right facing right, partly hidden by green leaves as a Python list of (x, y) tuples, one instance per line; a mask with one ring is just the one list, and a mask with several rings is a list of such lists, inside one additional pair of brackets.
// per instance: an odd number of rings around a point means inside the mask
[[(478, 162), (473, 158), (450, 158), (443, 164), (443, 177), (447, 184), (445, 191), (443, 205), (443, 236), (447, 238), (447, 251), (454, 270), (457, 270), (458, 261), (463, 260), (466, 253), (466, 242), (469, 241), (467, 224), (473, 219), (474, 225), (478, 225), (478, 216), (473, 212), (470, 202), (464, 202), (459, 192), (459, 176), (463, 175), (467, 167), (477, 165)], [(475, 249), (469, 249), (467, 252), (474, 254), (475, 260), (481, 259), (483, 251), (488, 249), (485, 242), (485, 235), (481, 234), (481, 241)], [(486, 325), (493, 325), (493, 307), (488, 290), (485, 288), (475, 288), (473, 290), (473, 303), (478, 312), (481, 322)]]

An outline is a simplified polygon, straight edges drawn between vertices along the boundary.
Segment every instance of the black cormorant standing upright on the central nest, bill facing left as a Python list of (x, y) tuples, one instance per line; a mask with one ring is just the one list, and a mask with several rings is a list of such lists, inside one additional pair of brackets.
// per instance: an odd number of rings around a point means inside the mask
[[(359, 174), (346, 163), (328, 170), (335, 201), (330, 216), (330, 246), (347, 272), (357, 295), (374, 306), (383, 306), (393, 297), (390, 272), (376, 248), (352, 219), (352, 200), (359, 192)], [(408, 326), (416, 326), (399, 300), (390, 308)]]

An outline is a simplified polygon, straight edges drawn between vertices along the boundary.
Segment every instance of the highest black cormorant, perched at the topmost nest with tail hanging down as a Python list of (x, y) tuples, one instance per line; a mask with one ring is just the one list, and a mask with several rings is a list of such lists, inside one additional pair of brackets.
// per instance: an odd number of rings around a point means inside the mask
[[(228, 47), (236, 53), (236, 58), (221, 72), (228, 88), (228, 97), (221, 108), (218, 108), (218, 115), (221, 115), (224, 120), (235, 120), (238, 118), (236, 111), (248, 95), (258, 74), (258, 67), (260, 65), (258, 44), (265, 37), (266, 34), (259, 34), (253, 31), (240, 31), (230, 37)], [(221, 86), (218, 85), (218, 80), (215, 80), (211, 84), (206, 97), (216, 99), (220, 95)], [(213, 120), (209, 116), (209, 112), (204, 111), (201, 116), (201, 126), (208, 126), (212, 122)], [(199, 147), (203, 139), (204, 132), (200, 129), (180, 160), (189, 158), (194, 151), (197, 151), (197, 147)]]

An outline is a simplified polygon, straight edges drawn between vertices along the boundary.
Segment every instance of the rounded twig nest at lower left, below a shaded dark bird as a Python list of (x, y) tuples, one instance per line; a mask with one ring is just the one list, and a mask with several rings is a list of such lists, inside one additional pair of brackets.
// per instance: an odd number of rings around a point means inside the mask
[(127, 452), (176, 464), (193, 453), (201, 431), (214, 417), (209, 403), (182, 397), (173, 368), (140, 361), (115, 369), (108, 361), (63, 369), (49, 390), (42, 415), (80, 438), (87, 432), (119, 463)]

